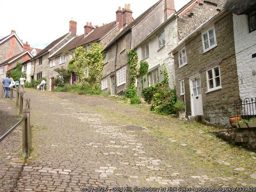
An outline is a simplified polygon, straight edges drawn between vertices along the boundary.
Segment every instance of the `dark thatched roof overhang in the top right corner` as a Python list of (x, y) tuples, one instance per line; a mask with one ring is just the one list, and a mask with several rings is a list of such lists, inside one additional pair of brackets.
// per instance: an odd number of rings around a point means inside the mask
[(236, 15), (246, 14), (256, 7), (256, 0), (226, 0), (224, 9)]

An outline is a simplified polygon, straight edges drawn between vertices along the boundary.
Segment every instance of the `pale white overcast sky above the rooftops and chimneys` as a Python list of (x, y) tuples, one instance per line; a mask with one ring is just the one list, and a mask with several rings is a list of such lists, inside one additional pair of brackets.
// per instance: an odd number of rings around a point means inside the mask
[[(178, 11), (189, 0), (174, 0)], [(158, 0), (0, 0), (0, 39), (15, 30), (31, 47), (45, 48), (69, 31), (71, 18), (77, 34), (84, 33), (86, 22), (102, 25), (116, 20), (116, 10), (130, 4), (136, 19)]]

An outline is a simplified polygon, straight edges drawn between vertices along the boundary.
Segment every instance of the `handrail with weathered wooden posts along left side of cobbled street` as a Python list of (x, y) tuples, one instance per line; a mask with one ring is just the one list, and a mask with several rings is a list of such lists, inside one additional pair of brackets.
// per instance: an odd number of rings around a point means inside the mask
[[(0, 142), (4, 140), (15, 128), (17, 128), (22, 122), (23, 124), (23, 139), (22, 139), (22, 148), (23, 152), (26, 153), (26, 157), (29, 157), (29, 138), (30, 138), (30, 98), (24, 98), (23, 91), (21, 91), (19, 88), (17, 90), (14, 90), (13, 88), (10, 88), (10, 100), (13, 99), (13, 91), (16, 91), (16, 107), (20, 108), (20, 114), (23, 114), (22, 119), (16, 123), (12, 128), (10, 128), (4, 135), (0, 137)], [(1, 92), (1, 98), (4, 98), (4, 87), (3, 85), (0, 88)], [(26, 105), (24, 106), (24, 100), (26, 102)]]

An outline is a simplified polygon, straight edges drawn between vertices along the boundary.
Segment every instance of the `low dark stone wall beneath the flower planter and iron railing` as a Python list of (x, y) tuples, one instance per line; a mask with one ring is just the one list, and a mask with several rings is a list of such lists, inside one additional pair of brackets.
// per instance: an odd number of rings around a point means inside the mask
[(256, 128), (232, 128), (213, 131), (217, 137), (232, 144), (256, 149)]

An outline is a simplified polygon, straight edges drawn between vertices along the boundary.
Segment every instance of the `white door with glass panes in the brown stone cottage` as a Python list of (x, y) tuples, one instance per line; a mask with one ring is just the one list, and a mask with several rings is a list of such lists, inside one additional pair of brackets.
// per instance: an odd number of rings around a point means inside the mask
[(203, 102), (200, 76), (190, 78), (190, 93), (191, 93), (191, 115), (203, 114)]

